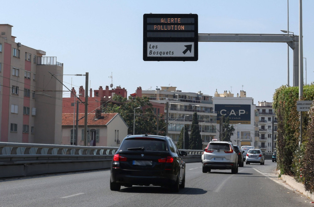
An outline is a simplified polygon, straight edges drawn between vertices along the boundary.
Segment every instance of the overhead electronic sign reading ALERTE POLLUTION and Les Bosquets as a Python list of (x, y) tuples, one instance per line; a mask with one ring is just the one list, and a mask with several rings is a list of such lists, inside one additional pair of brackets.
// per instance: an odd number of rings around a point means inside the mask
[(197, 14), (144, 14), (144, 61), (197, 61)]

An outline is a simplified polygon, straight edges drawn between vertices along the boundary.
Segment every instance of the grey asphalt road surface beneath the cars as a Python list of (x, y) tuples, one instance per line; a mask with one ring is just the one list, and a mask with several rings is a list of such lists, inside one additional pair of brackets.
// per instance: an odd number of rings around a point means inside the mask
[(0, 206), (314, 206), (284, 184), (276, 162), (244, 164), (202, 173), (201, 163), (187, 163), (185, 188), (109, 188), (110, 170), (0, 180)]

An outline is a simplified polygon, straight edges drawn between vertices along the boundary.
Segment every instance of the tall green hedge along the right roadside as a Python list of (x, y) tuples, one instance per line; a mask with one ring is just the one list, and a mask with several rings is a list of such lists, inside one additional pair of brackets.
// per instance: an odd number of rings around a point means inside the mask
[[(300, 100), (314, 99), (314, 85), (303, 87)], [(302, 145), (300, 141), (300, 115), (296, 109), (299, 100), (299, 87), (281, 86), (273, 96), (273, 109), (278, 120), (277, 125), (277, 166), (282, 174), (294, 176), (314, 192), (314, 124), (313, 113), (302, 112)], [(311, 109), (313, 110), (313, 108)]]

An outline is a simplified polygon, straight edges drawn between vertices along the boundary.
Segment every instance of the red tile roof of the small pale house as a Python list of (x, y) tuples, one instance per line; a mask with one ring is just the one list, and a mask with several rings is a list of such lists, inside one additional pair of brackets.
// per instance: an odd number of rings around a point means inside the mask
[[(100, 118), (96, 118), (95, 114), (87, 114), (88, 125), (107, 125), (118, 113), (102, 113)], [(78, 119), (84, 117), (84, 113), (78, 114)], [(76, 123), (76, 114), (75, 114)], [(78, 125), (84, 125), (84, 118), (78, 121)], [(62, 114), (62, 126), (73, 126), (73, 113)]]

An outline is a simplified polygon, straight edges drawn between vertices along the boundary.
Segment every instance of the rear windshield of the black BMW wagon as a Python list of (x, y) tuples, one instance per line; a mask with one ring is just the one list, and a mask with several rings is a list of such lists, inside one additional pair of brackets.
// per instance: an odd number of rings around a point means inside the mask
[(120, 150), (167, 151), (166, 141), (159, 139), (126, 139)]

